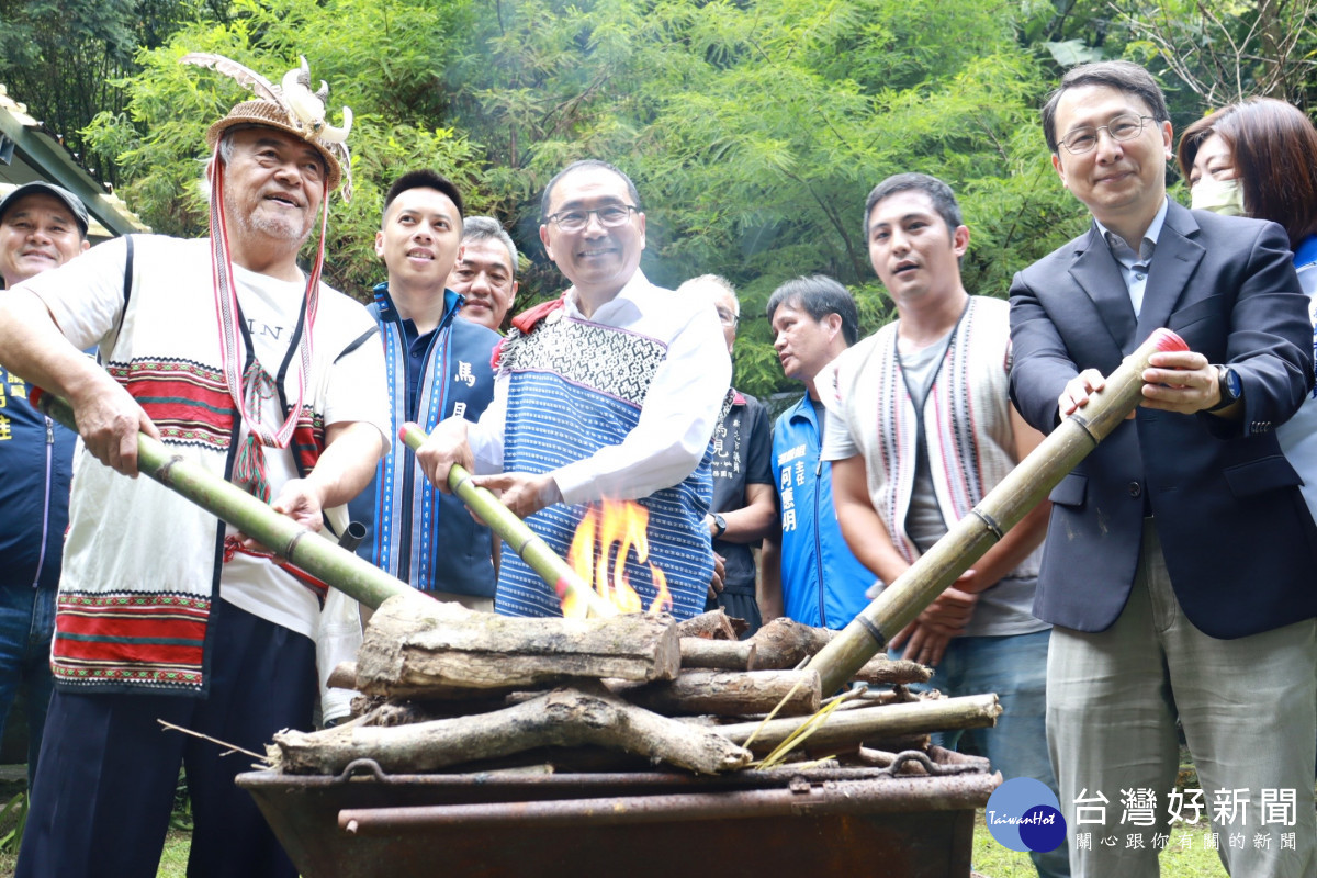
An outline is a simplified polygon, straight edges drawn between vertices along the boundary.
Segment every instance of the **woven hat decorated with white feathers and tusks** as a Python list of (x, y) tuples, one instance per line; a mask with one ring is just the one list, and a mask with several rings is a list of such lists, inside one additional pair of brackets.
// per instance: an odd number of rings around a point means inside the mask
[(329, 84), (321, 79), (320, 88), (311, 91), (311, 67), (306, 58), (299, 59), (302, 66), (284, 74), (279, 86), (224, 55), (194, 51), (179, 61), (232, 76), (240, 86), (255, 92), (255, 100), (237, 104), (205, 132), (205, 142), (211, 149), (215, 149), (224, 132), (240, 125), (266, 125), (296, 134), (324, 157), (329, 170), (329, 190), (333, 191), (342, 182), (342, 199), (352, 200), (352, 155), (346, 142), (348, 132), (352, 130), (352, 111), (342, 108), (341, 128), (329, 125), (325, 120)]

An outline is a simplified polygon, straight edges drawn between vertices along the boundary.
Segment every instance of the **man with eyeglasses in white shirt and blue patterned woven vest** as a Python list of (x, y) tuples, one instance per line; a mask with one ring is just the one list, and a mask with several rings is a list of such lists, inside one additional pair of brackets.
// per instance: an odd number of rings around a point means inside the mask
[[(714, 569), (705, 515), (710, 437), (731, 361), (707, 297), (655, 287), (640, 271), (645, 215), (631, 179), (607, 162), (569, 165), (541, 199), (540, 241), (572, 282), (512, 319), (495, 354), (494, 401), (479, 424), (440, 424), (417, 459), (446, 487), (461, 463), (560, 554), (586, 504), (639, 500), (649, 557), (626, 569), (645, 606), (666, 578), (672, 612), (703, 611)], [(495, 609), (556, 616), (558, 596), (503, 553)]]

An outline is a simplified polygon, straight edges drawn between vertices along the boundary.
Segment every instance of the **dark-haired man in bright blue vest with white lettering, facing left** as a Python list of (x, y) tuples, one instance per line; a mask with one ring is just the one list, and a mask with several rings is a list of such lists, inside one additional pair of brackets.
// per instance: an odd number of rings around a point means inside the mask
[(832, 465), (820, 458), (827, 411), (815, 378), (853, 345), (860, 316), (851, 292), (832, 278), (788, 280), (768, 300), (773, 348), (805, 396), (773, 425), (773, 483), (781, 533), (764, 540), (760, 611), (815, 628), (844, 628), (868, 606), (869, 571), (842, 536), (832, 505)]

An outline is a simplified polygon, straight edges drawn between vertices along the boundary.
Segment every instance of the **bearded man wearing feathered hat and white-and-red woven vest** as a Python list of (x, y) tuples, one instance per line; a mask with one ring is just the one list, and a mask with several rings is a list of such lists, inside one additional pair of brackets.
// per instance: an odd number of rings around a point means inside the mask
[[(207, 133), (209, 237), (111, 241), (0, 303), (0, 362), (68, 399), (86, 444), (21, 875), (154, 875), (180, 763), (190, 874), (295, 875), (233, 785), (248, 758), (220, 758), (158, 720), (259, 753), (281, 728), (309, 728), (317, 640), (360, 633), (354, 606), (327, 600), (323, 583), (125, 478), (137, 475), (141, 430), (278, 512), (337, 530), (389, 448), (375, 324), (320, 283), (321, 211), (348, 170), (346, 125), (325, 124), (304, 63), (275, 87), (224, 58), (184, 61), (257, 92)], [(317, 216), (321, 246), (303, 271)], [(104, 367), (80, 354), (92, 345)]]

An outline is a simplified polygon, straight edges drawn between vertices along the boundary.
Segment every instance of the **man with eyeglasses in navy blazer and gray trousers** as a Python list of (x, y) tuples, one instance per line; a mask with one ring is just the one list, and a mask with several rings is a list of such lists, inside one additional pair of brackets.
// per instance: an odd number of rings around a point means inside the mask
[[(1310, 877), (1317, 528), (1275, 426), (1312, 380), (1312, 326), (1285, 233), (1167, 199), (1171, 122), (1137, 65), (1075, 67), (1042, 116), (1094, 222), (1011, 284), (1025, 420), (1083, 416), (1160, 326), (1189, 348), (1154, 354), (1142, 405), (1051, 494), (1034, 612), (1054, 625), (1047, 733), (1072, 874), (1158, 874), (1179, 716), (1206, 796), (1252, 804), (1209, 811), (1227, 870)], [(1285, 825), (1266, 823), (1268, 794)], [(1155, 799), (1143, 845), (1079, 844), (1139, 832), (1121, 816), (1134, 799)], [(1076, 825), (1097, 810), (1105, 825)], [(1238, 832), (1293, 844), (1226, 845)]]

